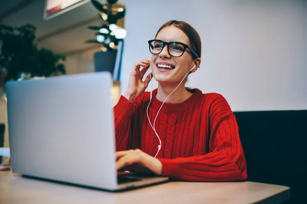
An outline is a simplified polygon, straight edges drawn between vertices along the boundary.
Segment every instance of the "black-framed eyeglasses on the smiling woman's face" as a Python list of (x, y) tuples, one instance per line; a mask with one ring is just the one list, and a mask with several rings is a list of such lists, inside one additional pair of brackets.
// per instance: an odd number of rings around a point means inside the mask
[(163, 48), (167, 45), (167, 51), (170, 56), (181, 57), (186, 49), (188, 49), (191, 54), (198, 58), (198, 54), (190, 48), (187, 44), (182, 42), (164, 42), (162, 40), (149, 40), (149, 51), (151, 54), (160, 54)]

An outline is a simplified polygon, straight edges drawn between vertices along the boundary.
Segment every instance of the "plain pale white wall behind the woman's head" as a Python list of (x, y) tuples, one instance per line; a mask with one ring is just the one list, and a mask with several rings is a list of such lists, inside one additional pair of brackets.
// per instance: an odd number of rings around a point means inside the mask
[(307, 109), (307, 1), (127, 0), (121, 92), (147, 41), (171, 19), (202, 38), (189, 86), (222, 94), (234, 111)]

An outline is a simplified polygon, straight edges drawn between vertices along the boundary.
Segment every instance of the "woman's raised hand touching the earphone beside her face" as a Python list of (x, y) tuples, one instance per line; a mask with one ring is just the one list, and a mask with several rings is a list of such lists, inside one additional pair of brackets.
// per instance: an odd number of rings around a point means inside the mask
[[(142, 70), (140, 70), (141, 66), (143, 67)], [(129, 101), (134, 102), (137, 97), (141, 96), (144, 93), (150, 81), (150, 75), (152, 77), (152, 73), (149, 73), (146, 79), (143, 81), (143, 77), (147, 72), (149, 66), (150, 61), (146, 59), (135, 63), (133, 70), (130, 74), (128, 87), (126, 89), (126, 92), (123, 94), (123, 96), (126, 97)]]

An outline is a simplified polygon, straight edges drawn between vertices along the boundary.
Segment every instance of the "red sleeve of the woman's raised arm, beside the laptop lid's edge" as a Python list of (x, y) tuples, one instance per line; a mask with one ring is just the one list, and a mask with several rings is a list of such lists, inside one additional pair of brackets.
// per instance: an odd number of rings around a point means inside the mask
[(131, 121), (136, 104), (130, 102), (124, 96), (120, 96), (118, 103), (114, 106), (114, 124), (116, 151), (127, 149), (128, 138), (131, 137)]

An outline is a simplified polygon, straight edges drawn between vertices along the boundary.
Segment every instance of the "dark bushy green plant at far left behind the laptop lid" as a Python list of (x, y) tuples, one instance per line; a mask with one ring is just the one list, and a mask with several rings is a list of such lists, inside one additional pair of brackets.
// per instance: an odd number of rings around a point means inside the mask
[(0, 78), (1, 73), (5, 73), (5, 81), (16, 80), (23, 73), (30, 78), (65, 74), (61, 63), (65, 57), (38, 49), (35, 33), (36, 27), (30, 24), (20, 27), (0, 24)]

